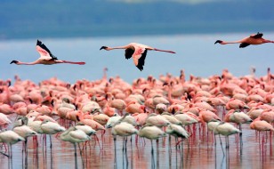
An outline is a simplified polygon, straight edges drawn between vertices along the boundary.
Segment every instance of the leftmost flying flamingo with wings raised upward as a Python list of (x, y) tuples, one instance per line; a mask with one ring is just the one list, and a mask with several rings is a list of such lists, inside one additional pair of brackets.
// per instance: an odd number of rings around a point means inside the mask
[(44, 64), (44, 65), (52, 65), (57, 63), (70, 63), (70, 64), (78, 64), (78, 65), (85, 65), (85, 62), (75, 62), (75, 61), (68, 61), (68, 60), (58, 60), (52, 52), (39, 40), (36, 43), (36, 50), (40, 53), (40, 58), (33, 62), (22, 62), (19, 60), (12, 60), (12, 63), (17, 65), (36, 65), (36, 64)]

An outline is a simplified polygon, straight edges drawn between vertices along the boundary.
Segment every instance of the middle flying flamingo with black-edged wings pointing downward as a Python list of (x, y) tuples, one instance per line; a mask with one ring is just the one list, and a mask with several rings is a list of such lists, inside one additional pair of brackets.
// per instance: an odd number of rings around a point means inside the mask
[(114, 50), (114, 49), (125, 49), (125, 59), (128, 60), (131, 57), (133, 57), (135, 66), (137, 68), (139, 68), (140, 70), (143, 69), (148, 50), (149, 51), (153, 50), (153, 51), (159, 51), (159, 52), (175, 53), (173, 51), (160, 50), (160, 49), (156, 49), (156, 48), (150, 47), (145, 44), (137, 44), (137, 43), (131, 43), (131, 44), (127, 44), (124, 46), (117, 46), (117, 47), (101, 46), (101, 49), (104, 49), (107, 51)]

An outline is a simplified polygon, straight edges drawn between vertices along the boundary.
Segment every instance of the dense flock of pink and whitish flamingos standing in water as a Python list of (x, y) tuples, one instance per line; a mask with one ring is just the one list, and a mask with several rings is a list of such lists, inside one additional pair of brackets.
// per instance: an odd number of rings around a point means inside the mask
[(258, 133), (274, 131), (270, 68), (260, 77), (236, 77), (224, 69), (221, 75), (191, 75), (189, 80), (181, 70), (180, 76), (148, 76), (132, 84), (119, 76), (108, 79), (106, 74), (75, 84), (56, 77), (35, 84), (14, 76), (14, 83), (0, 81), (0, 91), (0, 143), (4, 148), (9, 145), (9, 150), (1, 151), (6, 157), (12, 157), (12, 144), (24, 141), (28, 151), (28, 138), (33, 137), (36, 147), (39, 136), (43, 141), (56, 135), (71, 142), (77, 156), (80, 142), (85, 147), (94, 140), (103, 149), (108, 131), (114, 141), (123, 138), (125, 149), (129, 136), (136, 135), (136, 144), (149, 139), (151, 152), (152, 141), (158, 146), (166, 136), (177, 146), (201, 133), (214, 133), (225, 136), (229, 149), (229, 136), (241, 137), (242, 125)]

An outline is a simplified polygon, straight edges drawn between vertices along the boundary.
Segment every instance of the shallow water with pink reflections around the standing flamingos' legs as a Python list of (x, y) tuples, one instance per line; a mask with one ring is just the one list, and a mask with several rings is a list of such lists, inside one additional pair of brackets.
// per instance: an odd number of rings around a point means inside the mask
[[(222, 114), (220, 115), (222, 117)], [(64, 124), (69, 127), (69, 124)], [(190, 126), (192, 135), (189, 141), (182, 141), (176, 147), (174, 138), (165, 137), (159, 139), (158, 148), (153, 141), (153, 153), (151, 143), (147, 139), (136, 136), (127, 138), (123, 149), (123, 138), (117, 137), (115, 145), (110, 129), (102, 136), (101, 131), (96, 135), (99, 143), (92, 137), (92, 141), (77, 147), (77, 157), (74, 156), (73, 144), (60, 141), (52, 136), (52, 149), (49, 136), (46, 145), (42, 136), (38, 136), (38, 148), (34, 149), (33, 141), (28, 138), (27, 154), (22, 151), (22, 142), (12, 146), (12, 158), (0, 155), (1, 168), (272, 168), (273, 138), (270, 133), (259, 136), (249, 125), (243, 125), (243, 147), (240, 146), (239, 137), (231, 135), (229, 149), (225, 147), (225, 138), (216, 136), (216, 145), (212, 133), (196, 125), (196, 129)], [(189, 129), (187, 127), (187, 129)], [(102, 139), (103, 138), (103, 139)], [(262, 139), (263, 138), (263, 139)], [(270, 142), (271, 141), (271, 142)], [(261, 143), (259, 143), (261, 142)], [(182, 146), (183, 148), (182, 148)], [(2, 148), (4, 150), (4, 148)]]

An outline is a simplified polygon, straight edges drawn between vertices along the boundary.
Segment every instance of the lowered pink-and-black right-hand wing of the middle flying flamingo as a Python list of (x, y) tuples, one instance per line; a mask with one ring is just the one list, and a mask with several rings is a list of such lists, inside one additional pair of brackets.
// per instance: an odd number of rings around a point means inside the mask
[(135, 52), (133, 53), (133, 61), (137, 68), (140, 70), (143, 69), (143, 66), (145, 65), (145, 59), (147, 56), (148, 50), (146, 48), (135, 48)]

